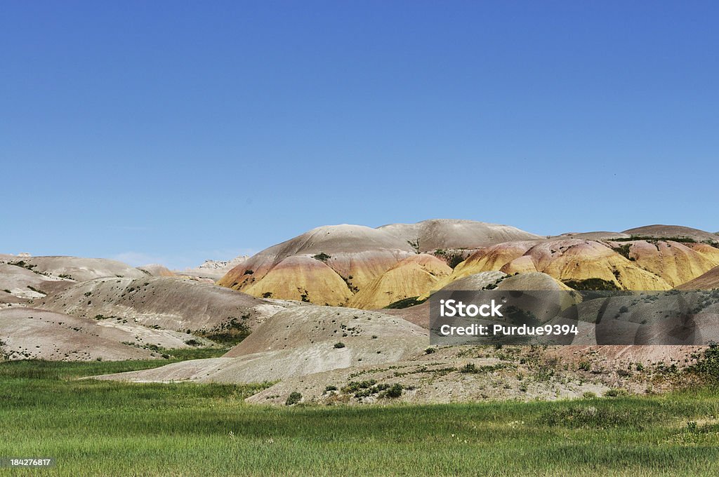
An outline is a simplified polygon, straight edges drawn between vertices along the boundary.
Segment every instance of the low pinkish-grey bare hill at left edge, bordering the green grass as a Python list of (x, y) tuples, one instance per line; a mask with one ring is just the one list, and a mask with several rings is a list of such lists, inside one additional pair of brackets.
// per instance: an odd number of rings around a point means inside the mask
[(90, 320), (32, 308), (0, 310), (0, 355), (7, 359), (152, 359), (160, 358), (156, 347), (187, 348), (186, 340), (185, 333), (131, 321)]

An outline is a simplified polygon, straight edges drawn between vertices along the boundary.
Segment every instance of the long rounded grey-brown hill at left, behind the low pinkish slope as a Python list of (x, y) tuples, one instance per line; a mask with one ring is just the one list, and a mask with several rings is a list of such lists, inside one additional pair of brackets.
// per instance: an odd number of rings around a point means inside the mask
[(102, 278), (35, 300), (35, 306), (84, 318), (137, 320), (168, 330), (214, 330), (235, 319), (254, 327), (283, 310), (268, 302), (212, 284), (172, 277)]

